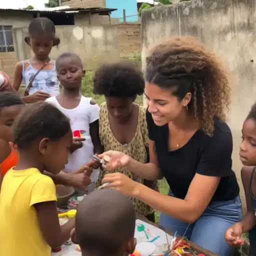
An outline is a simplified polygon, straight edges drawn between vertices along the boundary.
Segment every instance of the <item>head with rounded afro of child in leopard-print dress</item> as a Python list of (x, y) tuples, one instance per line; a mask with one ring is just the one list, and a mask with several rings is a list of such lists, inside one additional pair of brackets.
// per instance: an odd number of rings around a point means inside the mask
[(93, 92), (105, 96), (109, 114), (119, 121), (130, 116), (132, 102), (143, 91), (143, 74), (129, 61), (103, 64), (95, 72)]

